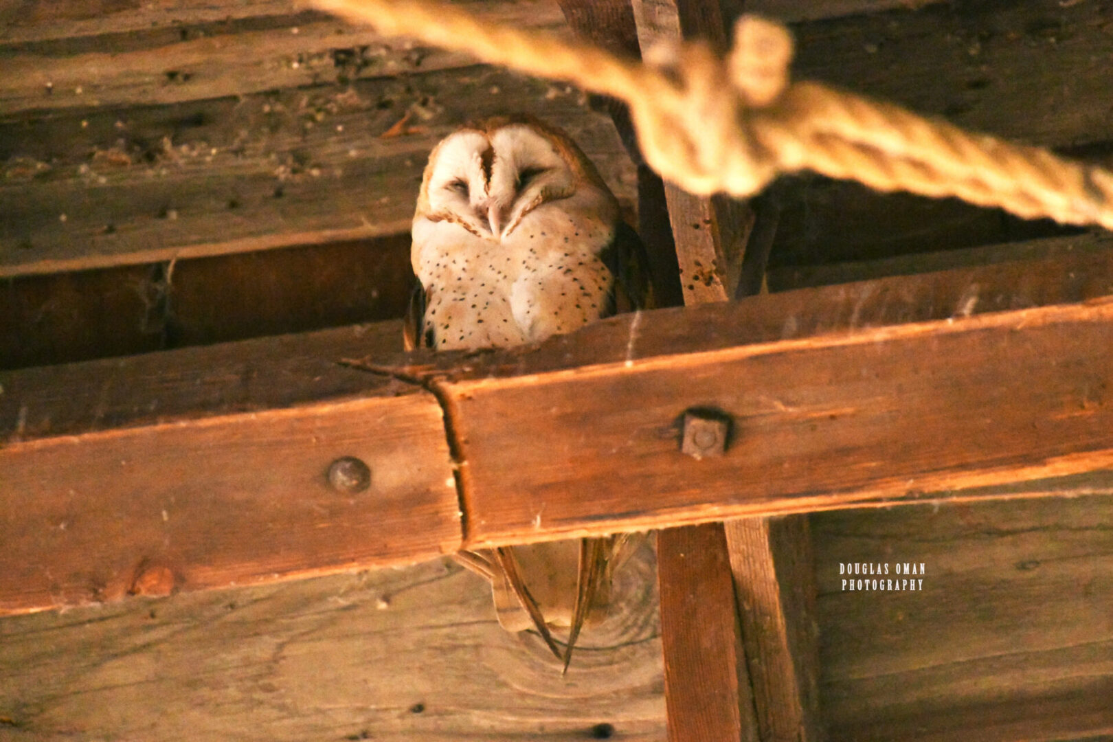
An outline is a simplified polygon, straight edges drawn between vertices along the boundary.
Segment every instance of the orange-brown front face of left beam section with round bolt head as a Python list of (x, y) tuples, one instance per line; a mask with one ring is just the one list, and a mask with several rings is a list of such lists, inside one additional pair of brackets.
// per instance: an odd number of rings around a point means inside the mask
[[(371, 488), (334, 491), (355, 456)], [(432, 395), (0, 449), (0, 613), (410, 563), (460, 546)]]

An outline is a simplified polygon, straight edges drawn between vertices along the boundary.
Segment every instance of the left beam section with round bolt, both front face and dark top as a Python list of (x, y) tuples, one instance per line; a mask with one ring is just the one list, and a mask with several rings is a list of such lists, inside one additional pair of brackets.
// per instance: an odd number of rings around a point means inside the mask
[[(314, 339), (319, 350), (374, 338), (348, 329)], [(273, 357), (282, 345), (254, 347)], [(336, 368), (327, 355), (270, 366), (266, 354), (245, 355), (252, 347), (3, 376), (0, 613), (459, 548), (433, 395)], [(297, 404), (307, 395), (313, 404)], [(117, 426), (121, 418), (131, 425)], [(370, 486), (329, 484), (345, 456), (370, 467)]]

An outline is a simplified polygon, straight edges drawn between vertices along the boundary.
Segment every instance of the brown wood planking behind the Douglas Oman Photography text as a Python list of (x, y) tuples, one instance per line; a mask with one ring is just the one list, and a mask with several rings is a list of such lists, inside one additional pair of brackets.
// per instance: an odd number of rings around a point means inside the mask
[[(1113, 479), (1091, 492), (809, 516), (831, 738), (1113, 734)], [(922, 592), (843, 590), (840, 565), (898, 563)]]

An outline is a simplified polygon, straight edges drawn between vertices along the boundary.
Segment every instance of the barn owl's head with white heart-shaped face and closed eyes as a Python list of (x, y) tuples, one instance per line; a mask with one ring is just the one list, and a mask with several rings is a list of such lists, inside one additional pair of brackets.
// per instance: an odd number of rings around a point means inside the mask
[(446, 221), (498, 243), (535, 209), (572, 197), (577, 209), (619, 217), (614, 196), (567, 133), (530, 116), (496, 117), (433, 149), (414, 222)]

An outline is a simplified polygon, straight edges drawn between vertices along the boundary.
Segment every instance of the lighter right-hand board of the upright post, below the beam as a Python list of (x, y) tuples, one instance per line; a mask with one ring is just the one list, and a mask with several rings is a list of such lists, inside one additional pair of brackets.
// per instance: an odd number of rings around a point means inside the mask
[(807, 517), (738, 518), (723, 526), (760, 739), (823, 740)]

